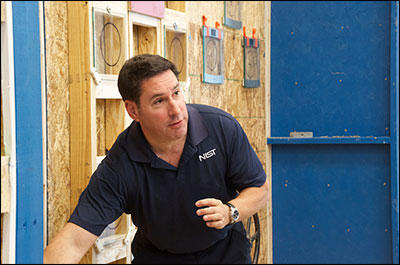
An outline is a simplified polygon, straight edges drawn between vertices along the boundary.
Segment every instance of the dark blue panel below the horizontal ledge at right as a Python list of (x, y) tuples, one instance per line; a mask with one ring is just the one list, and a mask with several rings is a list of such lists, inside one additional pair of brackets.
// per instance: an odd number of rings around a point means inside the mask
[(274, 145), (274, 263), (391, 263), (387, 145)]

